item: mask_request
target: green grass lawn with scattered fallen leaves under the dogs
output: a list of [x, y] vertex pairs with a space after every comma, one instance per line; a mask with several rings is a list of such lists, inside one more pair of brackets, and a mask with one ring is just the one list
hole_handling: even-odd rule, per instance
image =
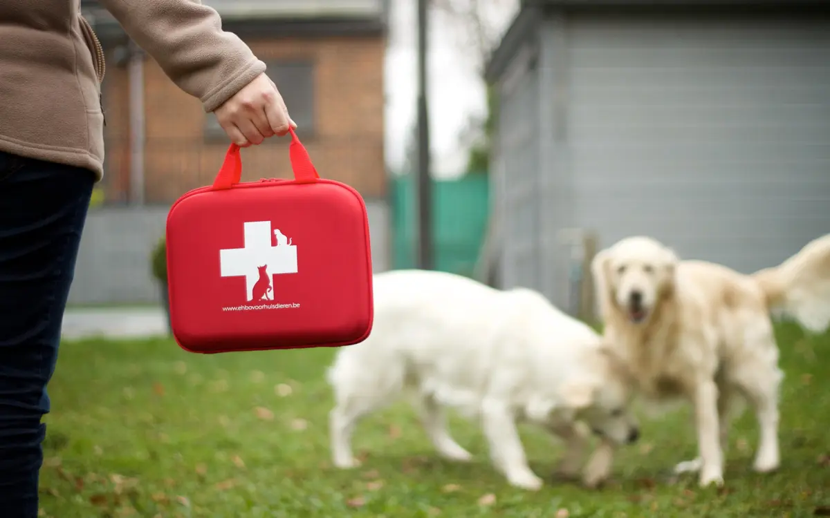
[[[198, 356], [163, 340], [66, 343], [50, 385], [41, 516], [830, 516], [830, 336], [780, 327], [779, 345], [779, 472], [752, 472], [746, 412], [724, 489], [673, 479], [669, 468], [696, 452], [684, 408], [644, 423], [606, 487], [551, 481], [531, 493], [494, 471], [479, 428], [464, 420], [453, 418], [452, 431], [475, 462], [440, 460], [404, 403], [359, 426], [362, 467], [334, 470], [324, 380], [334, 351]], [[547, 476], [559, 444], [522, 433]]]

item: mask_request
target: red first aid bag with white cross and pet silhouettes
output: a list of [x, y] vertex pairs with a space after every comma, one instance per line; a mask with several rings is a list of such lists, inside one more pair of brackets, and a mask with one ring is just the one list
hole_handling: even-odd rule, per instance
[[242, 182], [232, 144], [212, 186], [167, 217], [170, 323], [186, 351], [346, 346], [372, 329], [363, 198], [320, 178], [295, 133], [294, 179]]

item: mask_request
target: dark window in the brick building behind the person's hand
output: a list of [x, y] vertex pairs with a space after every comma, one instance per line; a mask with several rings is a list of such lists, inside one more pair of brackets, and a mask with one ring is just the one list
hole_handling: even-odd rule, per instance
[[[266, 73], [276, 83], [282, 99], [286, 101], [291, 119], [297, 123], [300, 137], [313, 136], [315, 133], [315, 66], [306, 60], [264, 60], [268, 69]], [[219, 125], [216, 115], [207, 114], [205, 119], [205, 138], [222, 139], [225, 131]]]

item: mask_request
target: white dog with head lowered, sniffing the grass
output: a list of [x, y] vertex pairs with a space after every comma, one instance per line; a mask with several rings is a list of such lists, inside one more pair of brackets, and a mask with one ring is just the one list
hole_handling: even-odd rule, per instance
[[424, 270], [374, 277], [374, 327], [344, 347], [329, 370], [334, 465], [354, 467], [351, 436], [360, 418], [402, 392], [414, 396], [438, 453], [471, 454], [453, 440], [442, 416], [452, 407], [481, 419], [491, 458], [510, 484], [539, 489], [516, 421], [541, 424], [564, 438], [560, 470], [579, 473], [590, 433], [602, 438], [584, 468], [594, 486], [608, 476], [613, 446], [639, 434], [627, 412], [630, 381], [591, 328], [564, 315], [539, 293], [499, 291], [469, 278]]

